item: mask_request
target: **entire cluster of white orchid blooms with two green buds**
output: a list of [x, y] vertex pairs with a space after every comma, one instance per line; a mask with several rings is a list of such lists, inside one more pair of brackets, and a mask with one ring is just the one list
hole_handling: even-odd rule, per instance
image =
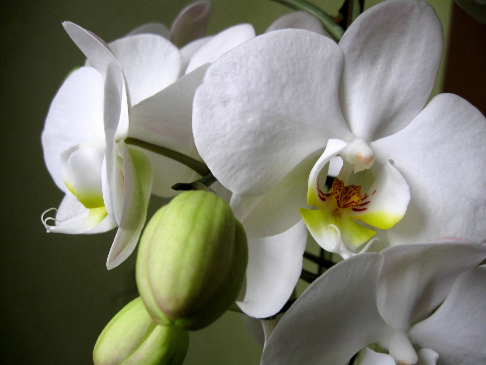
[[[385, 0], [344, 31], [278, 2], [299, 11], [258, 36], [204, 36], [206, 0], [111, 43], [63, 23], [87, 60], [46, 119], [65, 197], [42, 221], [117, 229], [108, 269], [141, 241], [140, 298], [95, 364], [181, 364], [187, 331], [226, 310], [247, 316], [262, 364], [486, 363], [486, 119], [457, 95], [429, 100], [433, 8]], [[180, 190], [140, 238], [150, 195]], [[312, 283], [295, 298], [299, 278]]]

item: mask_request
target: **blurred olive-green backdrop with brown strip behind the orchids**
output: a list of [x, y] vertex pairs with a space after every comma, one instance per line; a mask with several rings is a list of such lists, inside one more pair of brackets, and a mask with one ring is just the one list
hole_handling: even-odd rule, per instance
[[[343, 0], [315, 0], [337, 15]], [[368, 0], [365, 8], [379, 1]], [[146, 22], [170, 27], [187, 0], [0, 0], [0, 362], [92, 363], [106, 323], [137, 297], [135, 253], [105, 267], [114, 231], [93, 236], [48, 234], [41, 213], [63, 194], [45, 165], [41, 132], [50, 102], [84, 55], [61, 26], [73, 21], [109, 42]], [[212, 0], [208, 34], [250, 22], [262, 33], [290, 12], [268, 0]], [[430, 0], [445, 34], [433, 93], [455, 92], [486, 113], [486, 29], [450, 0]], [[164, 204], [152, 197], [149, 214]], [[302, 286], [302, 284], [301, 284]], [[227, 313], [191, 333], [185, 364], [257, 365], [260, 346]]]

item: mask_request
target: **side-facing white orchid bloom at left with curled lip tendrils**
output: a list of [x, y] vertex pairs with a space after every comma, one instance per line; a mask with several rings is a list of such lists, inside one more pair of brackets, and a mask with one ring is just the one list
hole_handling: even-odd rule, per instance
[[193, 175], [169, 158], [129, 148], [124, 140], [142, 139], [199, 159], [191, 130], [194, 91], [208, 62], [255, 32], [240, 24], [179, 50], [143, 28], [107, 45], [73, 23], [63, 25], [87, 62], [66, 79], [46, 119], [46, 165], [66, 196], [56, 218], [43, 214], [43, 223], [49, 232], [69, 234], [118, 227], [107, 259], [111, 269], [134, 250], [150, 194], [173, 196], [170, 187]]

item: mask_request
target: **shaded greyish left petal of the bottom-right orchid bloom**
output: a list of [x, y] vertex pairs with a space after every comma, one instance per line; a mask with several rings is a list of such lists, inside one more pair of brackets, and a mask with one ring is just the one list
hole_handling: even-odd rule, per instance
[[389, 333], [376, 307], [382, 256], [363, 253], [315, 280], [290, 307], [263, 350], [262, 364], [346, 362]]

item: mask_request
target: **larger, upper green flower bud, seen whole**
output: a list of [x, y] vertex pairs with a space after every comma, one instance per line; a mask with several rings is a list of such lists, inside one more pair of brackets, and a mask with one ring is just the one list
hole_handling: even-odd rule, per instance
[[137, 286], [157, 323], [197, 330], [234, 303], [247, 263], [247, 237], [228, 203], [207, 191], [188, 191], [145, 228]]

